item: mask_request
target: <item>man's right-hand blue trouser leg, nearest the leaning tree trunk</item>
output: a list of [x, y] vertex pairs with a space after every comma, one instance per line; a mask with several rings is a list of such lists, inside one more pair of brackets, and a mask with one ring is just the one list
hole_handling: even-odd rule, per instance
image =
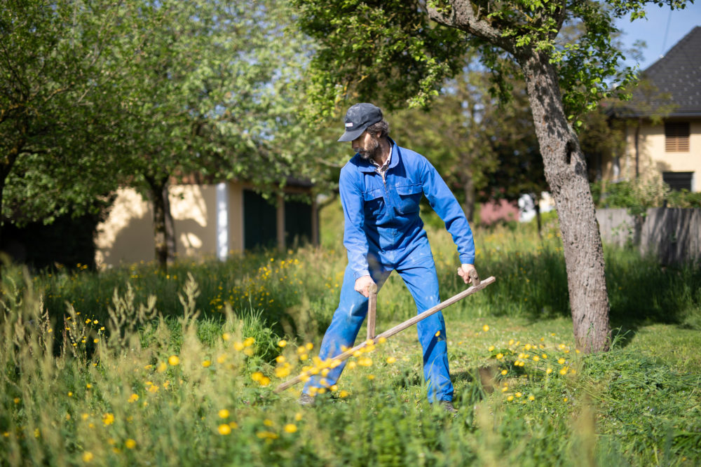
[[[440, 303], [438, 277], [428, 242], [417, 248], [397, 267], [416, 302], [416, 312], [422, 313]], [[418, 340], [423, 349], [423, 376], [428, 384], [428, 400], [453, 400], [453, 384], [448, 368], [448, 351], [443, 314], [437, 312], [416, 324]]]

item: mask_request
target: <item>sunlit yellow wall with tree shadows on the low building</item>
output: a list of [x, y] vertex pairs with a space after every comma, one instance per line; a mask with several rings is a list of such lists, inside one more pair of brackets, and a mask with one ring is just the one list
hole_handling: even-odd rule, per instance
[[[229, 252], [243, 250], [243, 188], [228, 184]], [[177, 256], [214, 257], [217, 253], [217, 186], [179, 185], [170, 188]], [[106, 221], [97, 226], [98, 267], [150, 261], [155, 257], [153, 211], [132, 188], [117, 191]]]

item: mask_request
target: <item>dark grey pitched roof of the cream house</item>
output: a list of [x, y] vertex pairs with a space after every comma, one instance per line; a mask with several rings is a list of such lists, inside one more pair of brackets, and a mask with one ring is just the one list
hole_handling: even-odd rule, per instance
[[701, 117], [701, 27], [691, 29], [645, 69], [641, 78], [651, 83], [653, 90], [643, 85], [636, 88], [625, 109], [616, 112], [619, 116], [646, 116], [651, 109], [674, 104], [667, 117]]

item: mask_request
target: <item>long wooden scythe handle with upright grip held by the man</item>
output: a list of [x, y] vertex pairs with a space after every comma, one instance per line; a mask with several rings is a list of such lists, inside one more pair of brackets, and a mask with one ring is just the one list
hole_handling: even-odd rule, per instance
[[[348, 359], [349, 357], [353, 356], [356, 351], [362, 349], [363, 347], [366, 347], [367, 345], [372, 342], [372, 345], [376, 344], [379, 342], [381, 339], [387, 339], [388, 337], [391, 337], [397, 333], [400, 333], [402, 330], [409, 328], [409, 326], [414, 326], [414, 324], [418, 323], [418, 321], [421, 321], [422, 319], [428, 318], [428, 316], [431, 316], [432, 314], [435, 314], [437, 312], [440, 312], [440, 310], [449, 307], [450, 305], [453, 305], [455, 302], [458, 302], [462, 300], [463, 298], [467, 297], [468, 295], [472, 295], [475, 292], [481, 291], [483, 288], [486, 286], [489, 286], [489, 284], [492, 284], [496, 279], [494, 276], [488, 277], [484, 279], [484, 281], [478, 282], [476, 286], [471, 286], [470, 288], [466, 288], [464, 291], [461, 293], [458, 293], [457, 295], [453, 295], [451, 298], [448, 300], [445, 300], [444, 302], [440, 302], [438, 305], [436, 305], [433, 308], [427, 309], [425, 312], [417, 314], [411, 319], [407, 319], [407, 321], [404, 321], [402, 323], [397, 324], [397, 326], [390, 328], [386, 330], [384, 333], [381, 333], [380, 335], [374, 335], [375, 334], [375, 308], [376, 308], [376, 303], [377, 303], [377, 286], [375, 284], [372, 284], [370, 287], [370, 296], [368, 300], [368, 305], [367, 305], [367, 340], [362, 342], [361, 344], [356, 345], [353, 347], [353, 349], [348, 349], [344, 351], [342, 354], [339, 354], [337, 356], [334, 356], [331, 358], [331, 361], [344, 361]], [[304, 381], [308, 377], [311, 377], [312, 373], [311, 371], [305, 371], [302, 372], [300, 375], [297, 375], [296, 377], [287, 380], [286, 382], [280, 384], [277, 388], [275, 388], [275, 392], [279, 393], [282, 391], [285, 391], [285, 389], [289, 388], [290, 386], [294, 386], [294, 384], [297, 384], [301, 381]]]

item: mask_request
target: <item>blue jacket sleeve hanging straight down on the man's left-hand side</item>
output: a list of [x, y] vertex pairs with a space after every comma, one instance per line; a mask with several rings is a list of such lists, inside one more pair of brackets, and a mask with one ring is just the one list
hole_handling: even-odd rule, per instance
[[353, 270], [355, 279], [369, 276], [367, 265], [368, 243], [365, 235], [365, 211], [363, 210], [362, 191], [353, 179], [348, 167], [341, 170], [339, 180], [341, 206], [343, 207], [343, 246], [348, 251], [348, 266]]

